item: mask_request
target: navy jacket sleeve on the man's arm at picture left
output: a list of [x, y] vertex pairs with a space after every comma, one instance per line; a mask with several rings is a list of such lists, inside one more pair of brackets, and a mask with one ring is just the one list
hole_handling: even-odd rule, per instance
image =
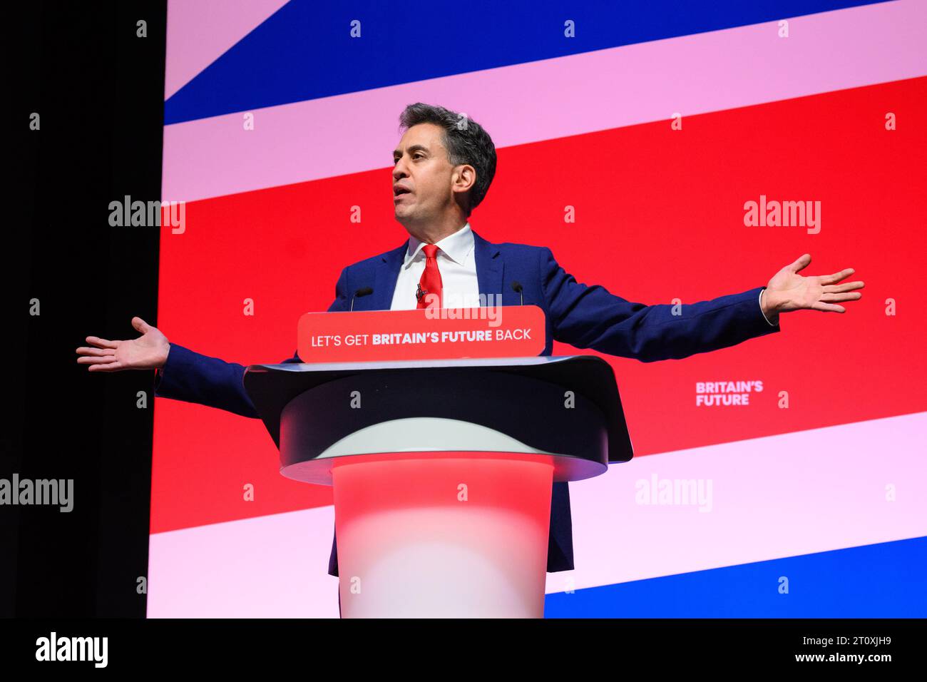
[[[347, 310], [348, 268], [341, 271], [335, 286], [335, 301], [328, 312]], [[298, 351], [282, 365], [301, 363]], [[258, 412], [245, 391], [245, 366], [225, 362], [171, 343], [164, 367], [155, 370], [155, 395], [186, 403], [197, 403], [258, 418]]]

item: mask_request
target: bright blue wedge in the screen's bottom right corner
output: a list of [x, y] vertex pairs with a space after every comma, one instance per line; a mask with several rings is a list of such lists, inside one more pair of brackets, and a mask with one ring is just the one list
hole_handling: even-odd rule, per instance
[[544, 604], [545, 618], [924, 618], [927, 537], [550, 594]]

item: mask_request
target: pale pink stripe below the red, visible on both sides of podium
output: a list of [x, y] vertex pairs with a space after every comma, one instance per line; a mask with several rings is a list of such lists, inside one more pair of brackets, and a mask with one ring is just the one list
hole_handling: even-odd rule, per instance
[[[927, 412], [632, 459], [570, 485], [577, 569], [547, 592], [927, 535]], [[710, 479], [711, 511], [635, 482]], [[894, 484], [897, 501], [885, 499]], [[333, 508], [153, 534], [149, 617], [335, 617]]]

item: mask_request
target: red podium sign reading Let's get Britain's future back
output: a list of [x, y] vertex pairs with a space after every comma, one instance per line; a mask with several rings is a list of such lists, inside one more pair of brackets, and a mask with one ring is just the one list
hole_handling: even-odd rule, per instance
[[545, 343], [537, 305], [306, 313], [297, 335], [307, 363], [526, 357]]

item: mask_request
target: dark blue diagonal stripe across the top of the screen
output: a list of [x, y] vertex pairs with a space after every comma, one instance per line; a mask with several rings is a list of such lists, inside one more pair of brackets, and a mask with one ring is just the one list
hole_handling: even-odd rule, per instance
[[[168, 99], [164, 122], [883, 1], [471, 0], [413, 6], [383, 0], [291, 0]], [[361, 21], [360, 38], [349, 35], [354, 19]], [[564, 35], [566, 19], [575, 22], [575, 38]]]

